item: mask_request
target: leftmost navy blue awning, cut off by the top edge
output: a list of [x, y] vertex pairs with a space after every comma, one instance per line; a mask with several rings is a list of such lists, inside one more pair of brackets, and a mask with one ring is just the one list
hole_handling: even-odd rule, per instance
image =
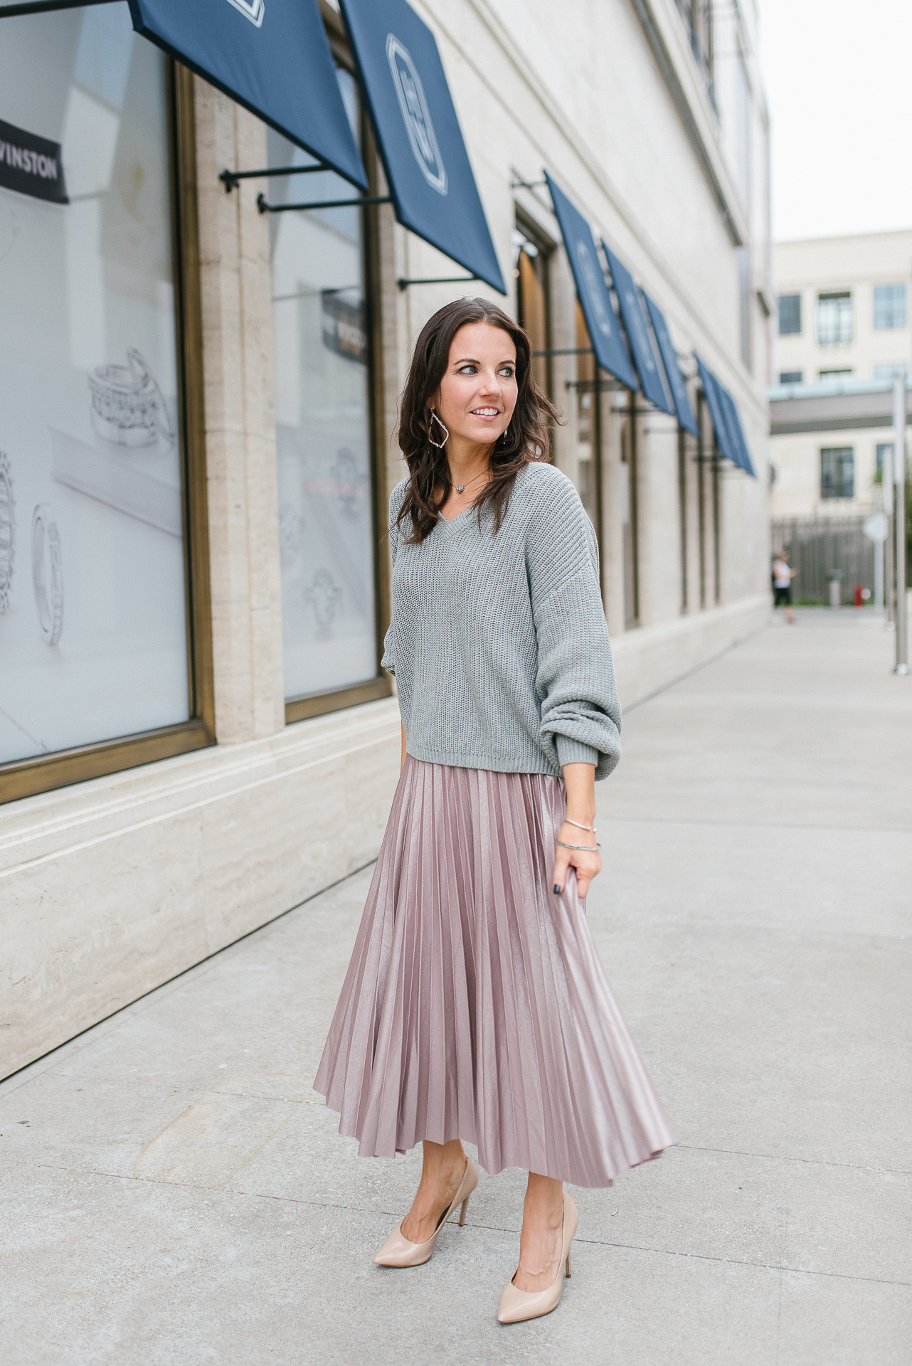
[[317, 0], [130, 0], [137, 33], [367, 189]]

